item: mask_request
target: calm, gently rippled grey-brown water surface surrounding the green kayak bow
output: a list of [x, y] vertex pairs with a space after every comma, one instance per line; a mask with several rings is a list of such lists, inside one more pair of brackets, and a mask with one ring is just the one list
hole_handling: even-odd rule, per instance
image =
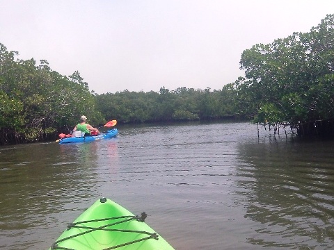
[[333, 249], [334, 142], [247, 123], [0, 147], [0, 249], [48, 249], [100, 197], [175, 249]]

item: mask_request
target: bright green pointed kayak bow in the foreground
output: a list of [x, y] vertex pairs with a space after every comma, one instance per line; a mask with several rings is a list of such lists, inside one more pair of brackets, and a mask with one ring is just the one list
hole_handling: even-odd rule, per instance
[[171, 250], [173, 247], [127, 209], [102, 198], [67, 226], [51, 249], [74, 250]]

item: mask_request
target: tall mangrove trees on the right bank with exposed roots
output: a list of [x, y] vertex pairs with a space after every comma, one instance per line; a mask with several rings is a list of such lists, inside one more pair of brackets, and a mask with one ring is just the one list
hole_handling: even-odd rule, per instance
[[256, 44], [242, 53], [248, 81], [237, 92], [254, 122], [289, 124], [303, 134], [319, 133], [319, 121], [333, 122], [333, 40], [334, 15], [327, 15], [309, 33]]

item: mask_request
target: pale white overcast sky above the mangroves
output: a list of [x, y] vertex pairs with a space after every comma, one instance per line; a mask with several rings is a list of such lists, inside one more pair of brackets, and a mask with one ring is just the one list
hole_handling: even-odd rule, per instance
[[244, 76], [242, 51], [308, 32], [333, 0], [0, 0], [0, 43], [78, 70], [90, 90], [211, 88]]

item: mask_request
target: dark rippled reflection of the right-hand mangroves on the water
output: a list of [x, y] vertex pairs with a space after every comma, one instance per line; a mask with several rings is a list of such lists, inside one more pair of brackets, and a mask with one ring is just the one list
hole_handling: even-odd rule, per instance
[[[251, 244], [331, 248], [334, 240], [333, 142], [239, 145], [238, 193], [254, 222]], [[326, 158], [324, 158], [326, 157]]]

